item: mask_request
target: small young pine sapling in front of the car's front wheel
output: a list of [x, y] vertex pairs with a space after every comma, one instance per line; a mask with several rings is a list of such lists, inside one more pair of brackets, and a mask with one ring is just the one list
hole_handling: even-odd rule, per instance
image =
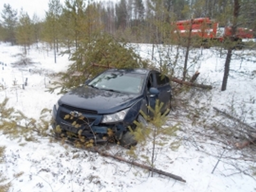
[[[134, 123], [137, 126], [136, 129], [134, 131], [130, 129], [138, 142], [137, 148], [140, 149], [131, 147], [130, 151], [128, 151], [128, 155], [133, 158], [145, 159], [151, 167], [154, 167], [154, 163], [157, 159], [157, 150], [159, 148], [167, 146], [170, 149], [175, 150], [180, 146], [180, 142], [176, 138], [179, 125], [166, 126], [169, 109], [167, 109], [166, 112], [161, 113], [162, 107], [163, 103], [156, 100], [154, 109], [148, 106], [152, 116], [145, 115], [142, 111], [140, 112], [142, 117], [147, 120], [148, 123], [145, 123], [145, 121], [135, 121]], [[147, 150], [145, 150], [146, 148]], [[145, 150], [146, 154], [141, 150]], [[140, 151], [140, 156], [137, 155], [137, 151]], [[151, 173], [151, 176], [153, 176], [153, 172]]]

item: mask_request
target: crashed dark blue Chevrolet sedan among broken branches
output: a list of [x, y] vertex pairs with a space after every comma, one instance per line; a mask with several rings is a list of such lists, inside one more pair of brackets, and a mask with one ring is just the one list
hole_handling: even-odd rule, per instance
[[123, 146], [136, 144], [128, 126], [140, 110], [150, 115], [156, 99], [163, 102], [162, 112], [170, 108], [169, 78], [150, 69], [109, 69], [73, 91], [63, 95], [53, 107], [53, 128], [105, 142], [111, 131]]

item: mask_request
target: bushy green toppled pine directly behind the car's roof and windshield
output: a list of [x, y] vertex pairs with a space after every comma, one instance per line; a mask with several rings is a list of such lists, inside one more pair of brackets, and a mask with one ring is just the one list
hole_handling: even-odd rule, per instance
[[[84, 43], [72, 54], [66, 73], [61, 73], [61, 82], [55, 83], [61, 93], [84, 83], [90, 77], [108, 68], [139, 68], [146, 66], [145, 61], [122, 40], [116, 40], [110, 34], [104, 33], [94, 38], [90, 43]], [[54, 88], [54, 89], [55, 89]], [[49, 91], [54, 91], [50, 89]]]

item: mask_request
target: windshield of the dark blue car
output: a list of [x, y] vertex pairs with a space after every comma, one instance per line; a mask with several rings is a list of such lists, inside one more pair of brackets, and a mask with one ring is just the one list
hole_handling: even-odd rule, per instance
[[114, 92], [135, 93], [141, 92], [144, 75], [126, 72], [105, 72], [94, 78], [88, 86]]

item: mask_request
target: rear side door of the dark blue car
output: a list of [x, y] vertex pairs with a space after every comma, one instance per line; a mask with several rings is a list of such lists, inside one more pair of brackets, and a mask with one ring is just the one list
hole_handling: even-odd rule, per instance
[[158, 99], [163, 102], [163, 107], [161, 112], [164, 113], [166, 109], [169, 108], [171, 99], [171, 86], [169, 83], [169, 78], [166, 75], [160, 74], [160, 72], [155, 72], [156, 87], [159, 90]]

